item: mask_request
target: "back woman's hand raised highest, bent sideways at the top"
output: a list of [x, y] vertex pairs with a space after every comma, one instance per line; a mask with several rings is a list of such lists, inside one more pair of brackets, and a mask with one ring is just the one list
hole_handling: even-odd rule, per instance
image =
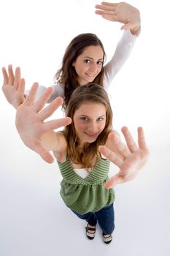
[[124, 25], [121, 29], [130, 29], [132, 34], [137, 34], [140, 28], [140, 12], [138, 9], [125, 2], [109, 3], [102, 1], [96, 4], [96, 14], [101, 15], [106, 20], [117, 21]]

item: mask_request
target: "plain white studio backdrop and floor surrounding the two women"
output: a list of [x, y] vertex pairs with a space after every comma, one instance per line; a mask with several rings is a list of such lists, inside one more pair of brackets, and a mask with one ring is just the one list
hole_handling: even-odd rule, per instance
[[[0, 91], [1, 256], [170, 254], [168, 2], [129, 1], [141, 11], [142, 32], [109, 89], [113, 125], [118, 131], [127, 125], [135, 138], [136, 127], [144, 127], [150, 160], [134, 181], [115, 188], [116, 227], [109, 246], [99, 228], [93, 241], [85, 238], [85, 222], [59, 195], [57, 163], [47, 165], [23, 145], [15, 110]], [[123, 31], [95, 15], [95, 4], [100, 2], [1, 1], [0, 66], [20, 66], [27, 89], [34, 81], [50, 86], [66, 46], [84, 32], [98, 35], [109, 60]]]

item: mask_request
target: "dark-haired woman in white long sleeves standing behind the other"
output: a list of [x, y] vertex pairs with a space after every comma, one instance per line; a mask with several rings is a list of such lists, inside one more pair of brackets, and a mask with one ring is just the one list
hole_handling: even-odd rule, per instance
[[[134, 46], [136, 36], [140, 31], [140, 12], [125, 2], [111, 4], [102, 2], [96, 5], [96, 14], [111, 21], [123, 23], [123, 37], [117, 45], [112, 59], [104, 66], [106, 55], [101, 40], [95, 34], [80, 34], [68, 45], [63, 56], [61, 69], [55, 74], [53, 94], [48, 103], [56, 97], [63, 97], [63, 107], [66, 107], [74, 89], [90, 82], [98, 83], [108, 89], [109, 84], [120, 68], [128, 59]], [[20, 67], [12, 70], [9, 65], [8, 72], [3, 67], [4, 84], [2, 90], [8, 102], [16, 109], [23, 103], [26, 93], [25, 80], [20, 79]], [[39, 86], [37, 97], [45, 91], [45, 86]]]

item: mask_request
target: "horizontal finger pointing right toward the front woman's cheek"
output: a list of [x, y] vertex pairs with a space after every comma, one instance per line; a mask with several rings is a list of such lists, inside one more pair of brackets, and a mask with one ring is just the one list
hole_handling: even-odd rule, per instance
[[47, 121], [44, 124], [44, 129], [45, 131], [49, 129], [58, 129], [60, 127], [66, 127], [66, 125], [69, 125], [71, 123], [72, 123], [72, 119], [69, 117], [65, 117], [58, 120]]

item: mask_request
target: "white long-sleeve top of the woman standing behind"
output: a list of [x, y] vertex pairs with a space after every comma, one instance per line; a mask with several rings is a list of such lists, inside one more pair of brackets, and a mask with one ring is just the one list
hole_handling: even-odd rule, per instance
[[[123, 36], [117, 44], [112, 59], [104, 67], [104, 89], [108, 90], [109, 84], [112, 82], [113, 78], [115, 78], [115, 75], [117, 75], [117, 72], [119, 72], [121, 67], [123, 67], [123, 64], [131, 54], [131, 50], [134, 47], [135, 41], [136, 36], [131, 34], [130, 30], [125, 30], [123, 32]], [[64, 98], [64, 85], [55, 84], [50, 87], [53, 87], [54, 91], [47, 103], [52, 102], [53, 99], [58, 96]], [[45, 89], [45, 86], [39, 86], [36, 99], [39, 99]]]

